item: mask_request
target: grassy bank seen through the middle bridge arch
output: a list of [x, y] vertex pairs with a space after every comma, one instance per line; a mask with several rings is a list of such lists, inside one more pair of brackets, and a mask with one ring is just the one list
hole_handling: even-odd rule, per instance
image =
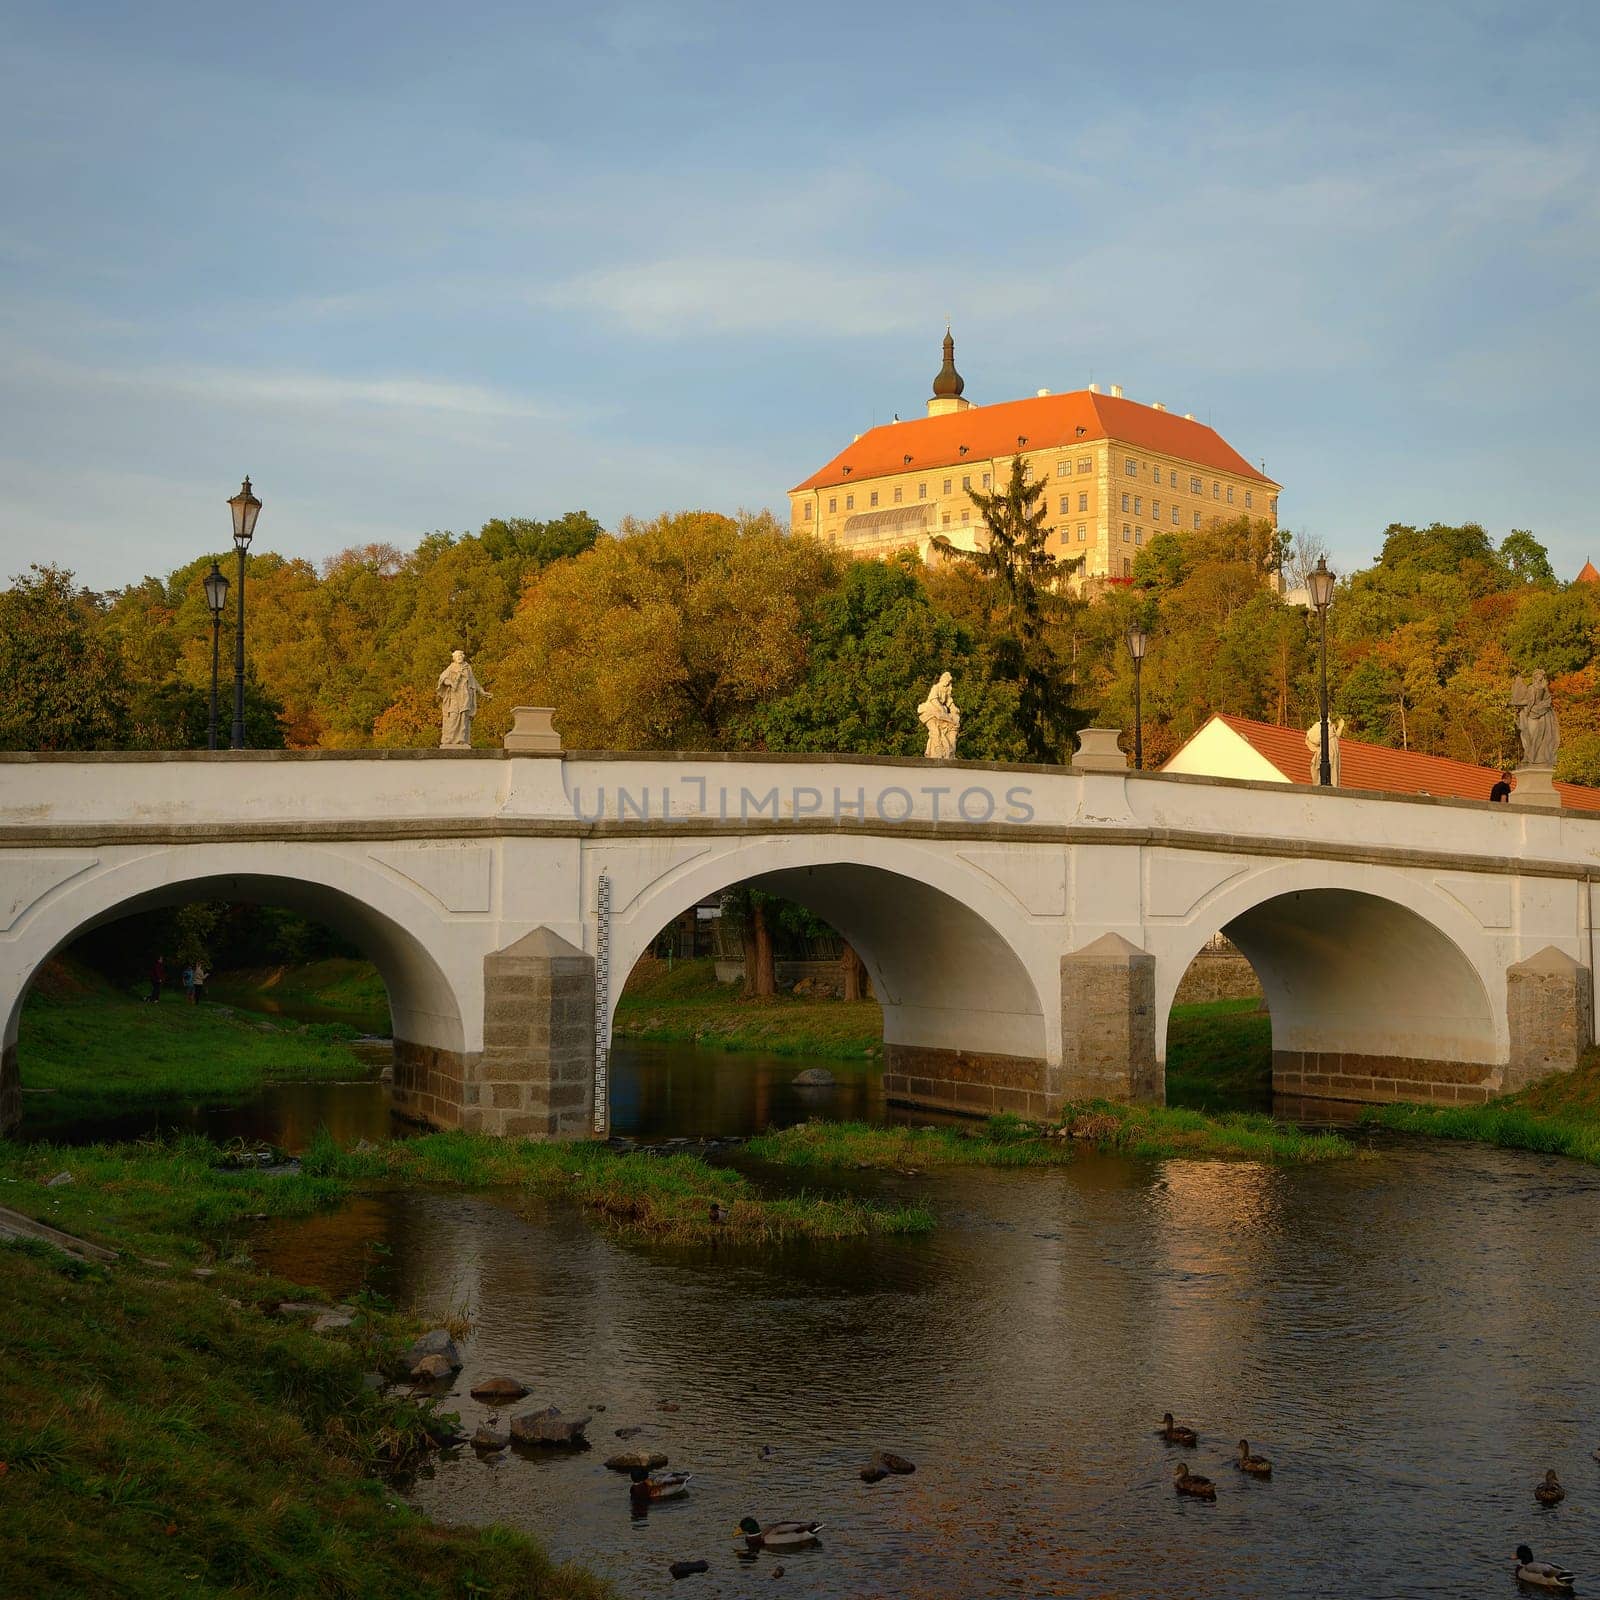
[[739, 984], [717, 982], [714, 962], [694, 960], [635, 973], [616, 1003], [613, 1034], [701, 1050], [866, 1061], [883, 1051], [883, 1013], [875, 1000], [747, 998]]

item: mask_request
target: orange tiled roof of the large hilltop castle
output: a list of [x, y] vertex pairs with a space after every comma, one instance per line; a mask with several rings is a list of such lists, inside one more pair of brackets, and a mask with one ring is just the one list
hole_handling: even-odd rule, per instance
[[[1027, 440], [1019, 446], [1018, 438]], [[1278, 488], [1258, 472], [1227, 440], [1203, 422], [1190, 422], [1173, 411], [1157, 411], [1118, 395], [1090, 394], [1078, 389], [1066, 395], [1034, 395], [1029, 400], [1003, 400], [998, 405], [974, 405], [944, 416], [920, 416], [907, 422], [885, 422], [846, 445], [821, 472], [811, 474], [789, 493], [859, 483], [891, 472], [918, 472], [930, 467], [954, 467], [960, 462], [1014, 456], [1022, 450], [1053, 450], [1061, 445], [1083, 445], [1096, 438], [1115, 438], [1138, 450], [1174, 456], [1216, 472], [1254, 478]], [[966, 446], [965, 453], [962, 446]], [[906, 458], [910, 456], [910, 461]], [[850, 467], [850, 472], [845, 472]]]

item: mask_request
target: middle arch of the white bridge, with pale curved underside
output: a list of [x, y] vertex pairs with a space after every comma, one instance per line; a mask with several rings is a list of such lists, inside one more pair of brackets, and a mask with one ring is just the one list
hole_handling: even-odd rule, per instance
[[891, 1099], [963, 1112], [1046, 1110], [1061, 1019], [1042, 995], [1056, 981], [1059, 933], [1042, 939], [989, 874], [912, 840], [741, 840], [664, 874], [613, 907], [613, 1010], [667, 922], [741, 883], [805, 906], [861, 957], [883, 1008]]

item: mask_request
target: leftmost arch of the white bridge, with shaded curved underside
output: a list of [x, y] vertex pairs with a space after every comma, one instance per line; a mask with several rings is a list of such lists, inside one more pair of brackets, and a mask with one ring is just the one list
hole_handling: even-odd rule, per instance
[[[336, 850], [306, 845], [286, 864], [282, 845], [197, 843], [99, 862], [40, 896], [0, 938], [0, 1125], [16, 1120], [16, 1045], [22, 998], [40, 966], [74, 939], [141, 910], [189, 901], [285, 906], [344, 934], [373, 962], [389, 992], [395, 1035], [395, 1099], [421, 1074], [459, 1074], [467, 1040], [482, 1032], [482, 947], [448, 930], [418, 890]], [[426, 1112], [427, 1107], [416, 1107]]]

